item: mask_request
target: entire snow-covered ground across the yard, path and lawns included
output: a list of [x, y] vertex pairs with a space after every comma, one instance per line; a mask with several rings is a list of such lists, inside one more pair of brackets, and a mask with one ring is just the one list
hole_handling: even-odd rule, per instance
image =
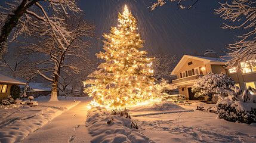
[[217, 119], [217, 114], [195, 110], [197, 105], [215, 104], [167, 102], [130, 107], [137, 130], [131, 128], [130, 119], [118, 115], [108, 125], [110, 110], [90, 108], [88, 97], [35, 100], [38, 107], [0, 108], [0, 142], [256, 142], [255, 123], [227, 122]]

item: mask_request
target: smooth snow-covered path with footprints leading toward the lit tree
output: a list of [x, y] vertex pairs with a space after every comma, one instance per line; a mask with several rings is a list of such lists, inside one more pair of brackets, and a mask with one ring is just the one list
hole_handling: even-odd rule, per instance
[[85, 127], [89, 103], [90, 101], [82, 101], [27, 136], [22, 142], [90, 142], [92, 137]]

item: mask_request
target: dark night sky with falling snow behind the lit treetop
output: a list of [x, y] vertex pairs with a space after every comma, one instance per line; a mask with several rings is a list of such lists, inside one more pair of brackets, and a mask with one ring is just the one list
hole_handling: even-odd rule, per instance
[[[4, 5], [4, 1], [0, 4]], [[147, 8], [150, 0], [81, 0], [79, 8], [85, 18], [97, 25], [99, 39], [93, 41], [91, 55], [102, 50], [102, 35], [109, 33], [110, 26], [117, 26], [118, 12], [122, 13], [125, 4], [137, 18], [138, 32], [150, 54], [161, 49], [177, 55], [179, 60], [183, 54], [203, 54], [206, 49], [214, 49], [223, 55], [227, 51], [225, 45], [234, 42], [235, 32], [221, 29], [223, 20], [213, 14], [214, 8], [219, 7], [215, 0], [199, 1], [190, 10], [177, 10], [177, 2], [168, 2], [152, 12]]]

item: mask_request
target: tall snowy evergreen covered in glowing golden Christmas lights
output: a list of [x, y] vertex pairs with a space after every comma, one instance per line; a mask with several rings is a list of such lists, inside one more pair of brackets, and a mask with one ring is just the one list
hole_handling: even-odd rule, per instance
[[112, 27], [109, 35], [104, 34], [104, 52], [97, 55], [106, 60], [92, 72], [87, 80], [91, 84], [92, 105], [105, 107], [126, 107], [156, 98], [153, 88], [155, 79], [152, 66], [153, 58], [147, 58], [143, 48], [144, 41], [137, 33], [137, 20], [125, 5], [124, 13], [118, 15], [118, 27]]

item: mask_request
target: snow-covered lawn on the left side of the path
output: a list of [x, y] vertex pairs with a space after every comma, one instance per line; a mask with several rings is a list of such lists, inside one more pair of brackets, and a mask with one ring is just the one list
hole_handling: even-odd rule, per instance
[[[45, 98], [49, 100], [49, 98]], [[42, 99], [41, 99], [42, 100]], [[55, 117], [69, 110], [80, 101], [39, 101], [36, 107], [7, 105], [0, 107], [0, 142], [22, 141]]]

